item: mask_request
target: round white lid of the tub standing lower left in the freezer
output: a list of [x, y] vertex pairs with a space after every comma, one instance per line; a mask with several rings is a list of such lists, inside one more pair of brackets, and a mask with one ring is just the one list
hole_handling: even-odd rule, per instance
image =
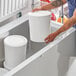
[[12, 47], [20, 47], [27, 44], [27, 39], [21, 35], [11, 35], [5, 38], [4, 44]]

